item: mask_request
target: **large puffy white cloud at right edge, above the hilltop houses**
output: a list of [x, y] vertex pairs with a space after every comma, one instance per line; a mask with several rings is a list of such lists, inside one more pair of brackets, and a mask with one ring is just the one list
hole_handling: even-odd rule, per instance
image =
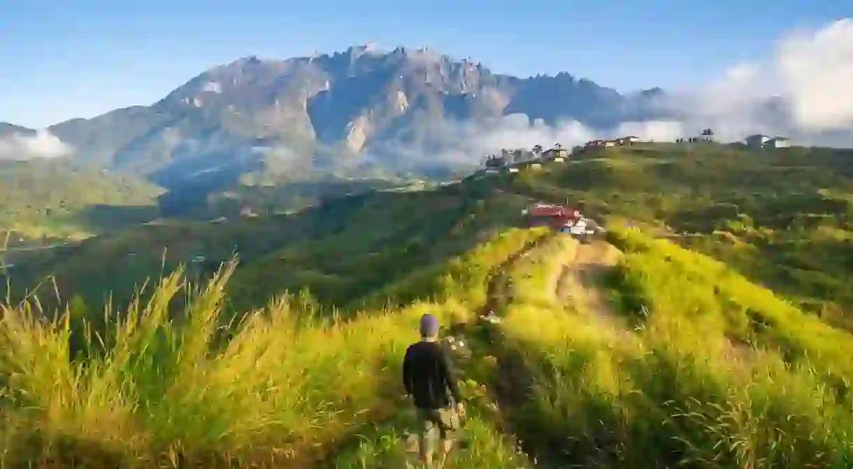
[[853, 146], [853, 20], [793, 32], [767, 61], [736, 64], [663, 106], [685, 130], [711, 127], [722, 140], [765, 133]]

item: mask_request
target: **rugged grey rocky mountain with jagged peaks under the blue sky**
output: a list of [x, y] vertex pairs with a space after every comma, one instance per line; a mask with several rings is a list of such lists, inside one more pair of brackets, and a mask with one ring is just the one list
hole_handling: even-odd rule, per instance
[[[593, 129], [658, 119], [664, 91], [623, 95], [567, 72], [518, 78], [430, 49], [369, 45], [213, 67], [150, 106], [49, 126], [73, 158], [170, 191], [445, 167], [462, 125], [509, 114]], [[0, 137], [35, 130], [0, 123]], [[549, 145], [554, 142], [541, 142]], [[495, 148], [496, 150], [496, 148]], [[471, 155], [476, 162], [480, 155]], [[251, 183], [251, 182], [249, 182]]]

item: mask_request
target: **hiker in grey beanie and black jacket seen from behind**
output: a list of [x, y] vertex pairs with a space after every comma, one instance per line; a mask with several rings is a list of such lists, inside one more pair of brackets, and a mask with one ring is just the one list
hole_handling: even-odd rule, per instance
[[[459, 396], [456, 376], [450, 357], [438, 343], [438, 319], [431, 314], [421, 316], [421, 341], [409, 345], [403, 359], [403, 385], [406, 394], [414, 397], [418, 410], [418, 443], [421, 462], [432, 467], [433, 442], [438, 431], [442, 443], [441, 466], [447, 459], [459, 429], [459, 418], [465, 416], [465, 406]], [[450, 397], [456, 402], [451, 406]]]

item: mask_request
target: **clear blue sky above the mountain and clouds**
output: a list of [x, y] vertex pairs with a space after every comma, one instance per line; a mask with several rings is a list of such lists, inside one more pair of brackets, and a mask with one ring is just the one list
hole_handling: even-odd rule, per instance
[[[244, 55], [373, 41], [561, 70], [620, 91], [686, 88], [769, 55], [781, 35], [853, 15], [815, 0], [0, 0], [0, 121], [31, 127], [150, 104]], [[177, 6], [176, 6], [177, 5]]]

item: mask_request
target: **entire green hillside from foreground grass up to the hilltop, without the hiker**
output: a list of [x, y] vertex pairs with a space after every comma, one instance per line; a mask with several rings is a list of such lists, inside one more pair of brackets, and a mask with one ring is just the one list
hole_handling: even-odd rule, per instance
[[[465, 343], [445, 467], [849, 467], [849, 156], [601, 149], [34, 253], [13, 283], [80, 296], [53, 323], [3, 311], [0, 463], [403, 467], [399, 364], [430, 311]], [[524, 228], [531, 200], [582, 204], [606, 239]], [[209, 283], [178, 269], [96, 319], [99, 292], [200, 255]]]

